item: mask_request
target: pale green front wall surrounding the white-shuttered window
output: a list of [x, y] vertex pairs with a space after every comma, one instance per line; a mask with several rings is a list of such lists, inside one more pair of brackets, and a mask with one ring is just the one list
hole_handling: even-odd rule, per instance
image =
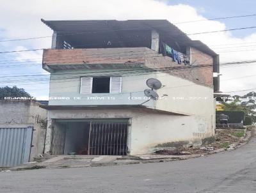
[[[127, 71], [127, 69], [124, 70]], [[132, 68], [129, 70], [132, 70]], [[147, 100], [147, 97], [144, 95], [144, 89], [147, 88], [145, 82], [148, 77], [154, 77], [154, 75], [134, 76], [134, 73], [132, 73], [130, 76], [127, 76], [125, 71], [116, 69], [109, 70], [106, 73], [106, 69], [103, 69], [97, 70], [97, 72], [95, 70], [66, 70], [51, 73], [49, 105], [138, 105], [145, 102]], [[143, 71], [140, 70], [140, 72]], [[122, 93], [80, 93], [80, 77], [86, 75], [99, 76], [102, 73], [106, 76], [120, 74], [122, 76]], [[54, 99], [54, 97], [59, 98]], [[154, 102], [147, 102], [146, 105], [153, 107]]]

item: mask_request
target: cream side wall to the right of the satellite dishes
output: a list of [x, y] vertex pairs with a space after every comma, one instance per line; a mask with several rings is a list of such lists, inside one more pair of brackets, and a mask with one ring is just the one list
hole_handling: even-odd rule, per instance
[[205, 123], [200, 127], [203, 127], [208, 133], [214, 134], [215, 102], [213, 88], [172, 75], [160, 74], [157, 75], [157, 79], [165, 85], [157, 90], [158, 95], [168, 96], [156, 101], [156, 109], [204, 118]]

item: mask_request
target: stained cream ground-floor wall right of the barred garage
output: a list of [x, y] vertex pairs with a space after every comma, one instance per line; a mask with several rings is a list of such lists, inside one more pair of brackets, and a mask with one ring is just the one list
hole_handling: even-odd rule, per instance
[[207, 128], [207, 119], [200, 116], [147, 113], [132, 118], [131, 153], [152, 153], [156, 146], [172, 142], [198, 145], [213, 134]]

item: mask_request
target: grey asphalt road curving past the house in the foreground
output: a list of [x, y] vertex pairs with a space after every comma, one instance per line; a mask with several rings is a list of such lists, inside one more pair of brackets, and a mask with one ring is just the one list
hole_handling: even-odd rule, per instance
[[0, 172], [0, 192], [256, 192], [256, 139], [177, 162]]

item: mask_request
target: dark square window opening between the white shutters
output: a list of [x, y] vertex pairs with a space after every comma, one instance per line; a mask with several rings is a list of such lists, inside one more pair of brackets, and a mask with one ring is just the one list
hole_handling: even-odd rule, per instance
[[92, 93], [109, 93], [110, 77], [93, 77]]

